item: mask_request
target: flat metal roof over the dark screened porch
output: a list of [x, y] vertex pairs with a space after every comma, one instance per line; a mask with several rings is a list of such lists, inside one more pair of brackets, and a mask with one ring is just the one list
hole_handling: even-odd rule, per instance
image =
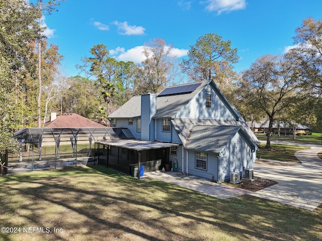
[[133, 139], [106, 140], [106, 141], [98, 141], [97, 143], [103, 144], [106, 146], [131, 149], [135, 151], [177, 147], [180, 145], [175, 143], [165, 143], [165, 142], [157, 142], [157, 141], [148, 142], [148, 141], [133, 140]]

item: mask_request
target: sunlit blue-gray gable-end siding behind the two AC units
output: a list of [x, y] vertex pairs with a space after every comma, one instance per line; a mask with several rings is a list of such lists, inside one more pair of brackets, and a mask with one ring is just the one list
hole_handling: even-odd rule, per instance
[[220, 158], [220, 181], [230, 178], [230, 172], [243, 177], [245, 168], [253, 168], [256, 152], [252, 153], [244, 138], [237, 133], [224, 149]]

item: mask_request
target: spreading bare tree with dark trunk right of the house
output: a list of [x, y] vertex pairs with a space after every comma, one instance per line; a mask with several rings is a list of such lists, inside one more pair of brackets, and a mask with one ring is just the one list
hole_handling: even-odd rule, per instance
[[298, 75], [288, 56], [265, 55], [243, 72], [240, 86], [243, 101], [269, 118], [267, 149], [271, 148], [275, 116], [294, 103], [298, 87]]

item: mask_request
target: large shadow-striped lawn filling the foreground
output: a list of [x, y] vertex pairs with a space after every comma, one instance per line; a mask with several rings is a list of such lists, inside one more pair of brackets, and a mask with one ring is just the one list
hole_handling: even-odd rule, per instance
[[21, 229], [0, 239], [322, 240], [322, 206], [308, 211], [249, 195], [221, 200], [92, 167], [1, 177], [2, 226], [51, 233]]

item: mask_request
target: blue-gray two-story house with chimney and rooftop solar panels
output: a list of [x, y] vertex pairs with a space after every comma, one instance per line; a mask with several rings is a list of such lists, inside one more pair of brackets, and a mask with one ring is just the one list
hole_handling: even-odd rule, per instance
[[172, 163], [174, 170], [222, 182], [231, 172], [244, 176], [256, 160], [259, 141], [212, 80], [134, 96], [108, 118], [135, 137], [98, 142], [118, 164]]

